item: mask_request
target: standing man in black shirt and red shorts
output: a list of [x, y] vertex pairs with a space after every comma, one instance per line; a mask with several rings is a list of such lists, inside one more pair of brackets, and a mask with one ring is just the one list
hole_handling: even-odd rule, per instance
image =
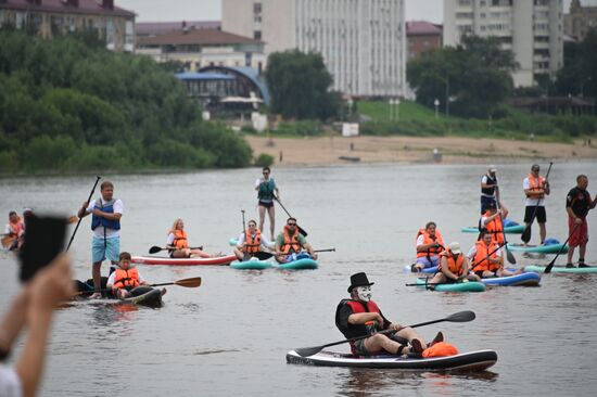
[[576, 187], [572, 188], [566, 196], [566, 210], [568, 212], [568, 230], [570, 239], [568, 241], [568, 262], [567, 268], [573, 268], [572, 256], [574, 251], [579, 248], [579, 267], [588, 268], [585, 264], [586, 244], [588, 243], [588, 225], [586, 216], [588, 210], [595, 208], [597, 204], [597, 195], [590, 201], [590, 193], [586, 190], [588, 187], [588, 178], [586, 175], [576, 177]]

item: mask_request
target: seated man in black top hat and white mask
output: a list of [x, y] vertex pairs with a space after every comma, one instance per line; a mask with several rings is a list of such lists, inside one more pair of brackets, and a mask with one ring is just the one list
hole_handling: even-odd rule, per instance
[[[391, 355], [420, 355], [427, 348], [424, 340], [411, 328], [383, 317], [378, 305], [371, 300], [371, 285], [373, 283], [369, 282], [364, 272], [351, 276], [351, 298], [342, 299], [335, 310], [335, 325], [347, 340], [371, 334], [364, 340], [351, 341], [353, 355], [370, 356], [382, 351]], [[443, 340], [440, 332], [433, 343]]]

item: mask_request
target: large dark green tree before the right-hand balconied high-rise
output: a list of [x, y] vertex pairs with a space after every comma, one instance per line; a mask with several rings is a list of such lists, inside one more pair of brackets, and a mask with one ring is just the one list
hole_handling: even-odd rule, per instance
[[456, 48], [411, 61], [407, 78], [419, 103], [433, 107], [435, 99], [444, 106], [449, 101], [450, 113], [486, 117], [511, 93], [516, 66], [512, 52], [501, 50], [497, 38], [463, 36]]

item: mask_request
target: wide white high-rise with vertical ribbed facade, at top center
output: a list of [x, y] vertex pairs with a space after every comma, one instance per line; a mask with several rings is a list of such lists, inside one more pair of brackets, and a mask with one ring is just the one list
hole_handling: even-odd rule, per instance
[[406, 93], [404, 0], [223, 0], [221, 28], [265, 52], [318, 52], [333, 89], [358, 97]]

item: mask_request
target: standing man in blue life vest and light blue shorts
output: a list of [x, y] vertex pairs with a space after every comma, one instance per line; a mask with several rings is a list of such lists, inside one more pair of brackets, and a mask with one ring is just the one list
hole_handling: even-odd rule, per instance
[[123, 216], [124, 204], [120, 198], [114, 198], [114, 184], [111, 181], [103, 181], [100, 185], [100, 197], [93, 202], [82, 203], [78, 212], [78, 217], [82, 218], [92, 214], [91, 230], [93, 239], [91, 241], [91, 261], [93, 266], [93, 289], [96, 293], [91, 298], [101, 297], [101, 266], [105, 259], [112, 262], [110, 273], [118, 265], [118, 255], [120, 253], [120, 218]]

